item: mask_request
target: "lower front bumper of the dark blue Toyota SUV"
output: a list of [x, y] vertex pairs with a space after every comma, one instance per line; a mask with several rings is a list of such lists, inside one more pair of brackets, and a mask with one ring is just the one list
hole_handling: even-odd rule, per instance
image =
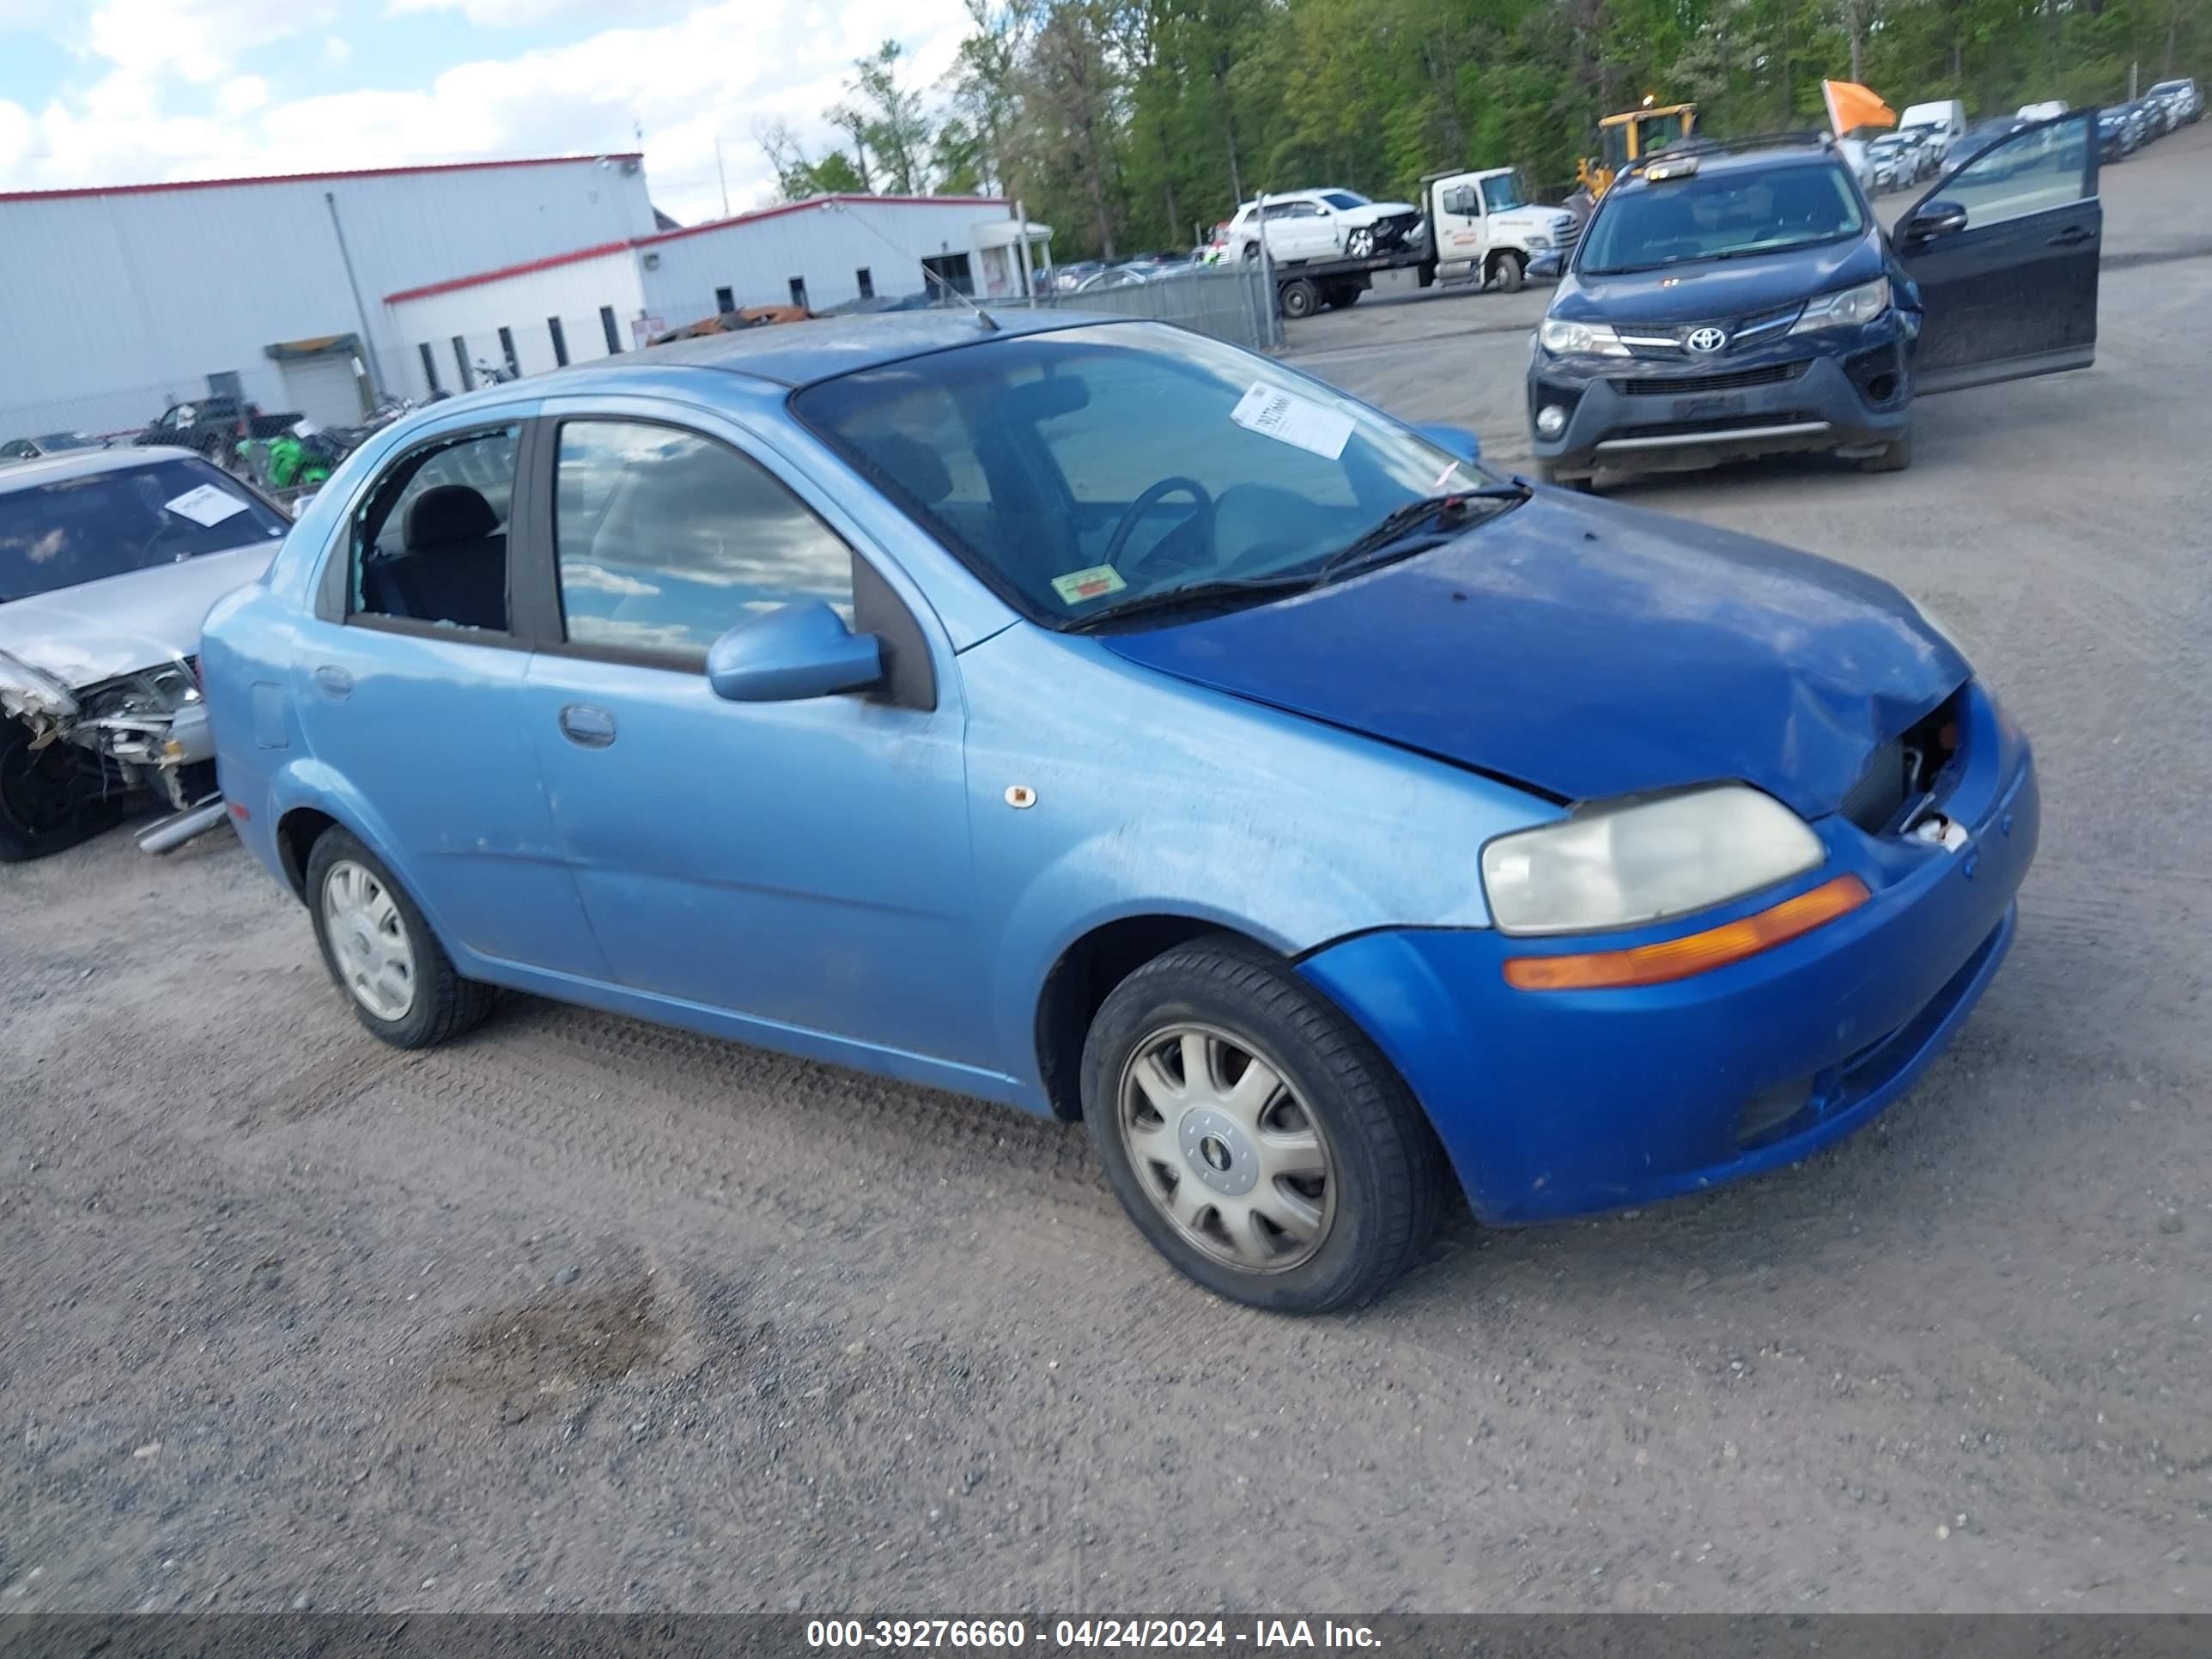
[[[1679, 471], [1754, 456], [1878, 447], [1911, 425], [1916, 321], [1785, 334], [1747, 352], [1528, 356], [1528, 442], [1559, 473]], [[1555, 436], [1537, 414], [1568, 411]]]

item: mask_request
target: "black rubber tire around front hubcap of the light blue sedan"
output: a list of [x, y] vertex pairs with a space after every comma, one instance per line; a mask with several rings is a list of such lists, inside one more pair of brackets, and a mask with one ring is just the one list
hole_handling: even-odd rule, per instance
[[[1121, 1075], [1177, 1022], [1265, 1055], [1329, 1155], [1318, 1245], [1283, 1270], [1234, 1267], [1164, 1214], [1121, 1137]], [[1217, 1296], [1274, 1314], [1327, 1314], [1378, 1296], [1420, 1254], [1444, 1199], [1444, 1155], [1411, 1091], [1327, 998], [1230, 936], [1152, 958], [1113, 989], [1084, 1042], [1084, 1117], [1115, 1197], [1155, 1250]]]

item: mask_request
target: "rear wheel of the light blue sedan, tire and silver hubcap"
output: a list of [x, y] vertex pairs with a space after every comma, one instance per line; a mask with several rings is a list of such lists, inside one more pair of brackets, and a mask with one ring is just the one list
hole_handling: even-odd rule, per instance
[[407, 889], [345, 830], [307, 854], [307, 909], [354, 1018], [394, 1048], [429, 1048], [491, 1013], [491, 987], [453, 971]]

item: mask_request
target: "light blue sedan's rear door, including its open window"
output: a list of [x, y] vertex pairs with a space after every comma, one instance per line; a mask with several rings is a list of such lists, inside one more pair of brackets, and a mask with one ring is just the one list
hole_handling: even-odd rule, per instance
[[518, 697], [509, 515], [526, 411], [462, 418], [394, 456], [299, 626], [307, 748], [449, 945], [602, 978]]

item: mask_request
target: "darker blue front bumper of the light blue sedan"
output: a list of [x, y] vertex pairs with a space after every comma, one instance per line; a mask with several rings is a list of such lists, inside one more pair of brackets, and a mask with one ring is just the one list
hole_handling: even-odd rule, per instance
[[1604, 938], [1385, 929], [1301, 971], [1398, 1066], [1482, 1221], [1577, 1217], [1794, 1164], [1913, 1084], [2013, 942], [2035, 858], [2035, 765], [1978, 688], [1966, 728], [1940, 810], [1969, 841], [1944, 849], [1823, 818], [1829, 858], [1796, 887], [1851, 872], [1871, 898], [1765, 953], [1621, 991], [1504, 980], [1513, 956], [1679, 938], [1783, 889]]

